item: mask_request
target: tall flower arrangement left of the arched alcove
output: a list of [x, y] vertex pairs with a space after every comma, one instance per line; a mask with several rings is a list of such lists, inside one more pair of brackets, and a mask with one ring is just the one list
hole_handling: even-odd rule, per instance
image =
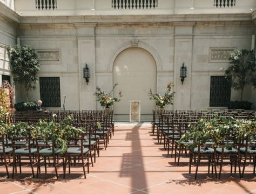
[[114, 103], [120, 101], [120, 99], [118, 99], [118, 97], [122, 98], [122, 96], [123, 96], [121, 91], [119, 91], [118, 96], [112, 97], [112, 93], [114, 91], [114, 88], [117, 85], [118, 85], [118, 83], [116, 83], [113, 86], [112, 90], [107, 94], [105, 94], [104, 91], [101, 91], [101, 89], [98, 86], [96, 87], [96, 92], [93, 95], [95, 95], [96, 101], [100, 103], [100, 106], [105, 107], [105, 108], [109, 108]]

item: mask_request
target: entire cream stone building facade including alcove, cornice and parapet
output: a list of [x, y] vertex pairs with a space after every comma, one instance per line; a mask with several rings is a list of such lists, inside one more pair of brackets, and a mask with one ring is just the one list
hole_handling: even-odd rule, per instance
[[[158, 0], [157, 8], [130, 10], [114, 9], [105, 0], [58, 1], [56, 10], [36, 10], [29, 0], [8, 2], [0, 1], [0, 73], [10, 75], [7, 45], [31, 45], [41, 63], [41, 84], [29, 99], [42, 98], [43, 82], [59, 83], [58, 106], [49, 108], [61, 109], [66, 96], [66, 109], [101, 109], [93, 96], [96, 86], [110, 91], [118, 82], [114, 93], [121, 90], [124, 96], [113, 107], [117, 119], [127, 120], [129, 100], [140, 100], [142, 119], [149, 120], [155, 107], [147, 92], [163, 93], [169, 81], [176, 95], [167, 109], [226, 108], [214, 102], [213, 93], [214, 88], [227, 90], [218, 83], [223, 82], [228, 54], [255, 48], [255, 1], [237, 0], [233, 8], [217, 9], [210, 0]], [[183, 63], [187, 77], [182, 83]], [[16, 102], [24, 101], [23, 91], [16, 86]], [[232, 90], [230, 99], [239, 98], [240, 91]], [[247, 87], [244, 100], [255, 109], [255, 89]]]

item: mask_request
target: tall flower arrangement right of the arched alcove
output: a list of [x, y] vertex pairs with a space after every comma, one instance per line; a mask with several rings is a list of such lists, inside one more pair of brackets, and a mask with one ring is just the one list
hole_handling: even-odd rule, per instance
[[158, 108], [163, 109], [165, 105], [173, 105], [173, 98], [175, 92], [172, 92], [174, 84], [172, 82], [169, 82], [167, 84], [167, 89], [163, 95], [160, 94], [153, 94], [152, 90], [149, 91], [149, 99], [156, 101], [156, 106]]

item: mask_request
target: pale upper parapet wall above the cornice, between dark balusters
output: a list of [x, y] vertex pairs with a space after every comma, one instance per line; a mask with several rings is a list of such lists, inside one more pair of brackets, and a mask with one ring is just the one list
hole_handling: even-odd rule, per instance
[[[213, 1], [161, 0], [155, 9], [114, 9], [111, 0], [61, 0], [54, 11], [36, 9], [34, 0], [15, 0], [15, 10], [22, 16], [75, 16], [75, 15], [168, 15], [198, 13], [251, 13], [254, 0], [237, 0], [235, 8], [219, 8]], [[192, 9], [194, 8], [194, 9]]]

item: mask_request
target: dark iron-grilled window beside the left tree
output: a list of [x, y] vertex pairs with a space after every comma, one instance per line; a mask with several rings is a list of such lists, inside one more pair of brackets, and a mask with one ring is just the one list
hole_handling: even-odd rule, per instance
[[43, 107], [61, 107], [59, 77], [39, 78]]

